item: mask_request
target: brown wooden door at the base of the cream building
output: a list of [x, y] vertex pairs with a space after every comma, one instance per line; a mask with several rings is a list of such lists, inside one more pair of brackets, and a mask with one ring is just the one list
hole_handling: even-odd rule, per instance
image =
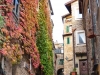
[[80, 69], [80, 75], [88, 75], [87, 60], [79, 61], [79, 69]]

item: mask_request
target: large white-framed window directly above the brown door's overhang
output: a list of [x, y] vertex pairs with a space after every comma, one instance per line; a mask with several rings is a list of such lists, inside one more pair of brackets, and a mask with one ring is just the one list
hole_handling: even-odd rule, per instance
[[81, 45], [81, 44], [85, 44], [85, 43], [86, 43], [85, 31], [84, 30], [77, 31], [76, 32], [76, 44]]

